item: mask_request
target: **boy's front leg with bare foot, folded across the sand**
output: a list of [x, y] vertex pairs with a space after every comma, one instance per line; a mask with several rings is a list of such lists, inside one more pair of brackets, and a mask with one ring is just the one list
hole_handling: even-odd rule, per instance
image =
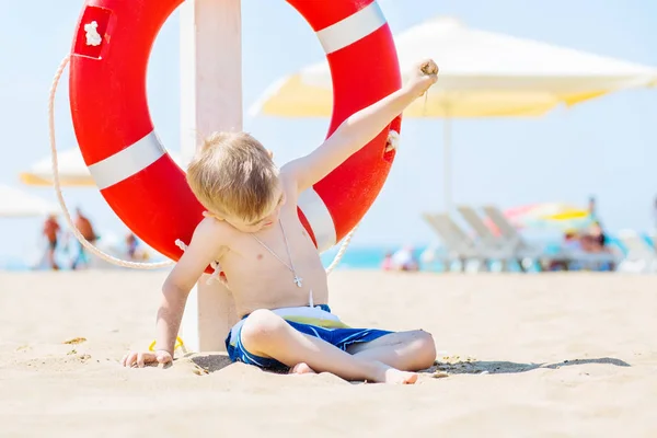
[[304, 335], [268, 310], [257, 310], [249, 315], [241, 330], [241, 342], [252, 355], [273, 358], [288, 367], [306, 362], [318, 372], [332, 372], [346, 380], [390, 383], [417, 380], [417, 374], [353, 356], [322, 339]]

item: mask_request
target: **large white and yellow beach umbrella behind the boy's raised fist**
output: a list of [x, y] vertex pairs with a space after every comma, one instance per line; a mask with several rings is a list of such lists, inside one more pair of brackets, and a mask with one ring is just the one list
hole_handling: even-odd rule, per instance
[[[652, 67], [484, 32], [451, 18], [414, 26], [395, 36], [395, 44], [404, 77], [426, 57], [440, 67], [439, 80], [426, 101], [418, 99], [404, 116], [446, 119], [448, 207], [450, 118], [540, 116], [560, 104], [575, 105], [610, 92], [657, 84], [657, 69]], [[331, 71], [323, 61], [274, 83], [250, 114], [328, 117], [332, 99]]]

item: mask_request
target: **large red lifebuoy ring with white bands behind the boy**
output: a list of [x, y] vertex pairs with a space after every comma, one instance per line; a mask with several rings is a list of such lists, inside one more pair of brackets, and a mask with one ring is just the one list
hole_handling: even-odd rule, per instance
[[[315, 31], [331, 68], [328, 136], [401, 87], [390, 27], [374, 0], [287, 0]], [[182, 0], [87, 0], [70, 60], [70, 105], [82, 157], [112, 209], [149, 245], [177, 260], [203, 207], [155, 134], [146, 92], [155, 36]], [[320, 251], [371, 207], [390, 171], [389, 129], [301, 194], [299, 218]], [[208, 268], [208, 272], [211, 272]]]

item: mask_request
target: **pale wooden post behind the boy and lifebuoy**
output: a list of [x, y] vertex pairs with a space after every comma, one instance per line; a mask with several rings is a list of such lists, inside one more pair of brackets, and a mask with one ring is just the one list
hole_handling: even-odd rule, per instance
[[[181, 141], [188, 162], [203, 138], [242, 130], [241, 0], [186, 0], [181, 18]], [[223, 351], [237, 322], [231, 292], [204, 275], [192, 290], [181, 336], [192, 351]]]

